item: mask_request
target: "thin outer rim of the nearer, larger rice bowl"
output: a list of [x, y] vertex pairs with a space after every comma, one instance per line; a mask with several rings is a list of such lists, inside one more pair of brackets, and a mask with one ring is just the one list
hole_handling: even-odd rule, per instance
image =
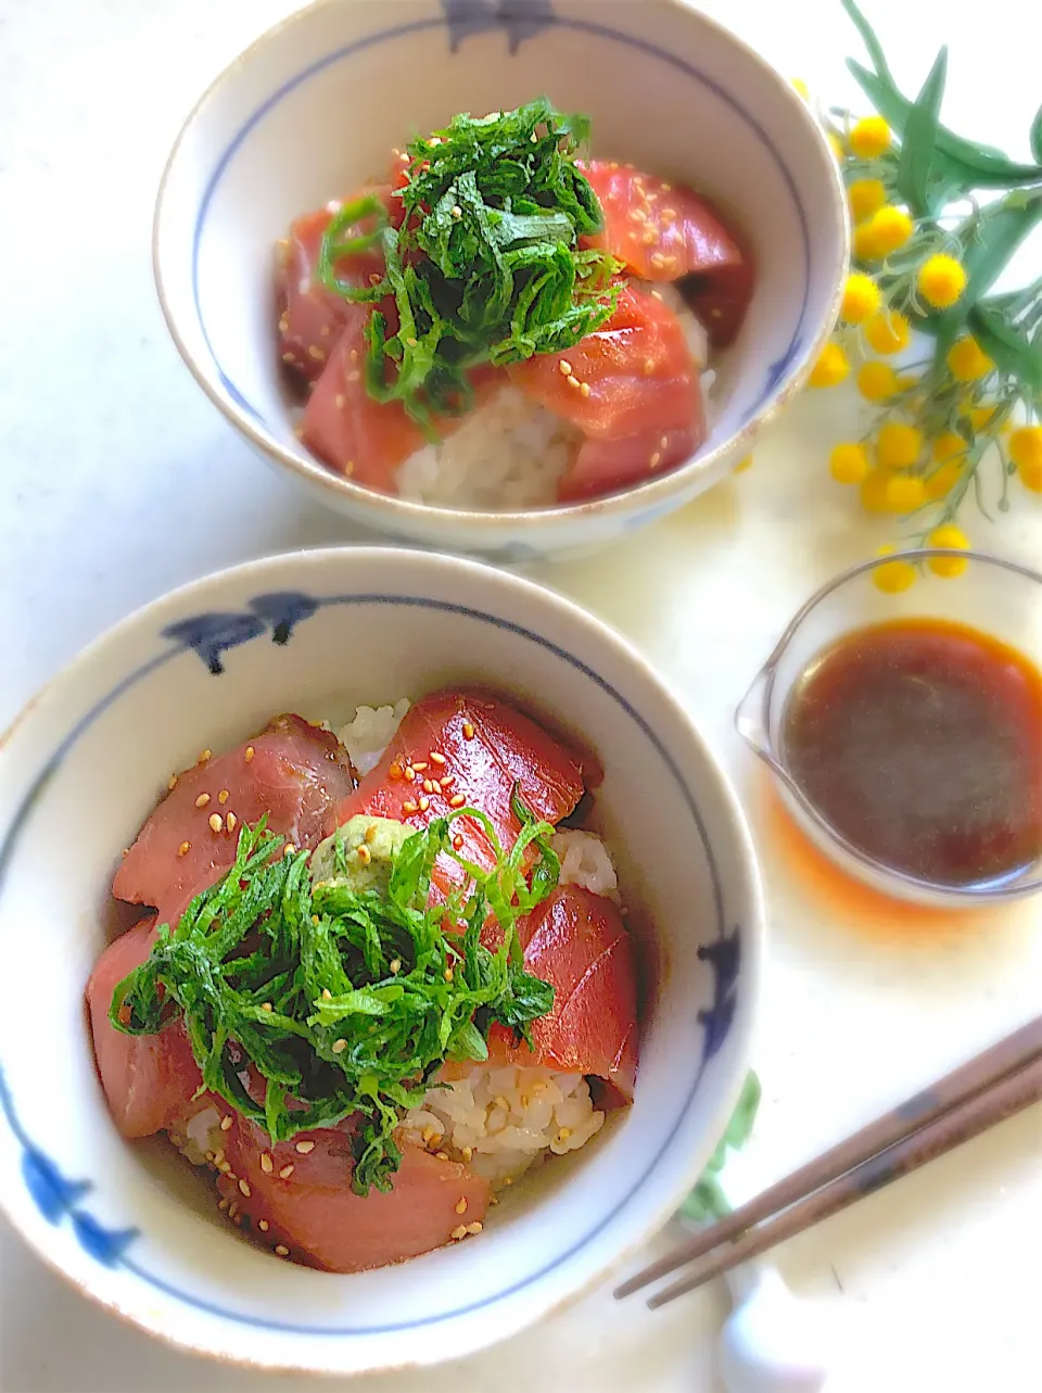
[[[276, 552], [258, 557], [249, 561], [237, 563], [228, 567], [223, 567], [217, 571], [212, 571], [203, 577], [194, 578], [184, 585], [174, 586], [170, 591], [145, 602], [138, 606], [130, 614], [120, 618], [117, 623], [111, 624], [103, 630], [96, 638], [86, 644], [54, 677], [45, 683], [33, 696], [22, 706], [22, 709], [15, 715], [14, 720], [10, 723], [6, 731], [0, 734], [0, 769], [3, 769], [6, 761], [10, 758], [11, 749], [17, 745], [20, 729], [22, 727], [26, 717], [29, 717], [38, 706], [45, 705], [47, 698], [56, 696], [63, 690], [74, 690], [75, 678], [81, 667], [95, 662], [104, 649], [113, 642], [118, 642], [139, 628], [142, 621], [146, 621], [155, 612], [162, 612], [162, 609], [174, 602], [181, 602], [188, 596], [196, 593], [205, 593], [212, 586], [223, 585], [224, 582], [237, 582], [244, 577], [256, 574], [262, 578], [270, 567], [277, 567], [280, 563], [302, 563], [308, 567], [315, 567], [315, 570], [322, 570], [326, 566], [336, 566], [339, 560], [344, 561], [359, 561], [365, 563], [368, 560], [379, 559], [384, 563], [400, 561], [403, 557], [408, 557], [415, 561], [421, 568], [429, 571], [442, 573], [464, 573], [474, 577], [475, 581], [492, 579], [503, 586], [507, 595], [514, 595], [521, 599], [527, 599], [529, 603], [536, 606], [543, 606], [550, 612], [561, 616], [567, 623], [575, 624], [580, 628], [585, 628], [588, 632], [598, 635], [598, 639], [606, 645], [607, 649], [613, 651], [619, 659], [627, 663], [637, 674], [641, 683], [649, 684], [660, 701], [663, 701], [671, 710], [673, 717], [677, 722], [680, 730], [683, 730], [685, 740], [698, 752], [699, 763], [706, 775], [706, 777], [713, 784], [713, 795], [720, 801], [726, 818], [726, 834], [731, 841], [733, 859], [736, 865], [736, 878], [738, 880], [738, 894], [745, 905], [745, 915], [742, 918], [742, 963], [741, 974], [744, 978], [742, 997], [745, 1002], [744, 1015], [745, 1027], [737, 1035], [736, 1039], [736, 1059], [731, 1066], [731, 1073], [726, 1077], [720, 1087], [720, 1100], [717, 1102], [715, 1126], [706, 1128], [706, 1141], [702, 1148], [706, 1155], [710, 1153], [712, 1144], [716, 1139], [716, 1133], [722, 1131], [727, 1123], [730, 1112], [733, 1110], [738, 1094], [741, 1091], [745, 1071], [748, 1068], [756, 1014], [759, 1010], [761, 996], [762, 996], [762, 974], [763, 974], [763, 958], [766, 949], [766, 925], [765, 925], [765, 897], [759, 871], [759, 862], [749, 832], [749, 826], [737, 797], [736, 790], [731, 786], [730, 776], [727, 775], [723, 763], [710, 749], [706, 737], [701, 733], [684, 703], [680, 701], [677, 692], [673, 690], [671, 684], [663, 678], [659, 671], [652, 666], [652, 663], [635, 648], [635, 645], [621, 632], [619, 632], [613, 625], [607, 624], [605, 620], [589, 613], [582, 606], [571, 600], [570, 598], [552, 591], [549, 586], [541, 585], [536, 581], [528, 579], [525, 577], [514, 575], [510, 571], [503, 571], [499, 567], [490, 566], [488, 563], [476, 561], [472, 559], [457, 557], [444, 553], [432, 553], [415, 547], [400, 547], [400, 546], [365, 546], [365, 545], [341, 545], [316, 549], [288, 549], [286, 552]], [[529, 623], [532, 623], [529, 620]], [[593, 669], [596, 673], [596, 669]], [[13, 830], [7, 827], [7, 830]], [[705, 1061], [703, 1061], [705, 1063]], [[703, 1066], [701, 1066], [703, 1067]], [[688, 1166], [688, 1177], [685, 1180], [684, 1191], [694, 1185], [698, 1178], [698, 1170], [692, 1163]], [[664, 1223], [669, 1222], [671, 1215], [683, 1198], [683, 1192], [671, 1194], [669, 1197], [659, 1197], [656, 1205], [649, 1205], [645, 1217], [639, 1226], [639, 1233], [627, 1238], [623, 1244], [614, 1247], [614, 1251], [596, 1259], [596, 1262], [581, 1272], [581, 1279], [568, 1290], [564, 1295], [557, 1298], [550, 1307], [541, 1309], [534, 1318], [522, 1321], [517, 1330], [528, 1329], [534, 1321], [545, 1319], [546, 1316], [559, 1314], [578, 1300], [581, 1300], [586, 1293], [600, 1284], [612, 1272], [617, 1270], [621, 1263], [628, 1258], [634, 1256], [641, 1251], [644, 1244], [662, 1229]], [[22, 1191], [18, 1191], [20, 1199], [22, 1198]], [[39, 1244], [33, 1233], [26, 1231], [21, 1223], [21, 1212], [24, 1205], [21, 1202], [13, 1204], [11, 1197], [7, 1194], [0, 1194], [0, 1212], [6, 1213], [8, 1222], [18, 1233], [21, 1241], [45, 1262], [47, 1268], [56, 1272], [63, 1280], [75, 1287], [82, 1295], [86, 1295], [96, 1305], [107, 1309], [113, 1315], [118, 1316], [125, 1323], [142, 1330], [143, 1333], [160, 1339], [164, 1344], [174, 1348], [185, 1350], [194, 1354], [203, 1355], [212, 1361], [221, 1364], [228, 1364], [234, 1367], [255, 1368], [265, 1371], [284, 1371], [284, 1372], [305, 1372], [305, 1373], [339, 1373], [340, 1376], [350, 1376], [351, 1373], [362, 1372], [378, 1372], [390, 1371], [393, 1368], [412, 1368], [422, 1367], [433, 1362], [443, 1362], [443, 1360], [450, 1358], [449, 1354], [439, 1354], [432, 1361], [414, 1361], [411, 1364], [397, 1365], [390, 1358], [380, 1358], [379, 1355], [364, 1365], [358, 1365], [352, 1369], [344, 1369], [334, 1360], [330, 1358], [305, 1358], [294, 1357], [288, 1353], [290, 1346], [287, 1344], [287, 1354], [281, 1354], [276, 1358], [272, 1357], [244, 1357], [233, 1350], [224, 1347], [217, 1347], [217, 1341], [208, 1336], [205, 1332], [199, 1333], [182, 1333], [178, 1326], [177, 1330], [171, 1329], [170, 1325], [160, 1328], [159, 1322], [149, 1323], [149, 1321], [138, 1311], [127, 1309], [125, 1304], [116, 1294], [104, 1294], [98, 1291], [96, 1286], [91, 1283], [89, 1279], [74, 1275], [63, 1263], [60, 1256], [56, 1256], [47, 1247]], [[134, 1275], [134, 1273], [131, 1273]], [[535, 1287], [538, 1290], [541, 1279], [535, 1279]], [[458, 1319], [457, 1316], [451, 1318]], [[224, 1325], [224, 1319], [219, 1318], [220, 1329]], [[468, 1344], [465, 1354], [478, 1354], [481, 1350], [497, 1343], [501, 1337], [514, 1333], [514, 1328], [504, 1330], [501, 1334], [496, 1330], [490, 1330], [488, 1339], [475, 1339]], [[315, 1351], [333, 1350], [341, 1341], [351, 1343], [352, 1336], [330, 1336], [325, 1341], [306, 1341], [297, 1340], [297, 1344], [304, 1347], [312, 1347]]]

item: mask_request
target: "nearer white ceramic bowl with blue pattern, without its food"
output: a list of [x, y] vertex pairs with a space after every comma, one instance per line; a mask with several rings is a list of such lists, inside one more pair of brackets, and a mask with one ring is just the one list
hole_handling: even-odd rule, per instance
[[[518, 692], [603, 759], [598, 808], [645, 929], [632, 1109], [518, 1184], [479, 1240], [330, 1276], [220, 1219], [202, 1176], [117, 1135], [82, 992], [109, 885], [173, 769], [273, 713], [456, 680]], [[0, 741], [0, 1205], [81, 1291], [185, 1348], [354, 1372], [465, 1354], [602, 1279], [677, 1206], [748, 1063], [762, 905], [727, 781], [645, 662], [527, 581], [426, 553], [290, 554], [139, 610], [46, 687]]]

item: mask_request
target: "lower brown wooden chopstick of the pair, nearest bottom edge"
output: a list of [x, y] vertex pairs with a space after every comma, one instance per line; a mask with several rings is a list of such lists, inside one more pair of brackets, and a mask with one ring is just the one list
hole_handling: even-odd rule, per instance
[[978, 1094], [960, 1107], [944, 1113], [929, 1127], [894, 1142], [893, 1146], [815, 1191], [769, 1223], [751, 1229], [736, 1243], [729, 1243], [723, 1248], [706, 1254], [680, 1282], [674, 1282], [651, 1297], [648, 1307], [655, 1311], [658, 1307], [684, 1295], [685, 1291], [701, 1287], [722, 1272], [730, 1272], [738, 1263], [766, 1252], [768, 1248], [773, 1248], [805, 1229], [811, 1229], [822, 1219], [827, 1219], [848, 1205], [857, 1204], [858, 1199], [864, 1199], [865, 1195], [871, 1195], [875, 1190], [882, 1190], [890, 1181], [918, 1170], [928, 1160], [943, 1156], [947, 1151], [954, 1151], [971, 1137], [978, 1137], [1006, 1117], [1013, 1117], [1021, 1109], [1036, 1103], [1039, 1098], [1042, 1098], [1042, 1060], [1035, 1060], [1034, 1064], [1028, 1064], [1002, 1080], [986, 1092]]

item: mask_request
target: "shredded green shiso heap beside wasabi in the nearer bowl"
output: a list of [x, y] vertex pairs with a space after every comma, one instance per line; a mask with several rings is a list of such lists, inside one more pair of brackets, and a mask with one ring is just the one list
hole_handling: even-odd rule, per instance
[[[117, 983], [111, 1024], [155, 1035], [182, 1013], [201, 1091], [274, 1142], [361, 1114], [352, 1188], [390, 1190], [401, 1160], [394, 1128], [442, 1064], [486, 1059], [495, 1021], [531, 1042], [531, 1022], [553, 1006], [553, 988], [524, 970], [515, 922], [554, 889], [560, 862], [553, 827], [517, 793], [514, 811], [522, 830], [508, 851], [475, 808], [435, 819], [401, 846], [384, 892], [336, 875], [312, 885], [308, 851], [277, 855], [283, 839], [265, 819], [244, 826], [227, 875], [176, 928], [163, 925], [148, 960]], [[453, 850], [450, 827], [462, 816], [488, 834], [492, 871]], [[525, 873], [529, 847], [538, 858]], [[471, 880], [430, 904], [440, 853]], [[344, 855], [341, 841], [341, 868]], [[490, 914], [503, 929], [495, 953], [479, 942]], [[265, 1080], [263, 1105], [240, 1077], [249, 1064]]]

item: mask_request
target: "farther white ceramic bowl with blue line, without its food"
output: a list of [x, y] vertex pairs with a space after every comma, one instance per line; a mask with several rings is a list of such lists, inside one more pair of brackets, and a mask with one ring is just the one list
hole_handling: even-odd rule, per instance
[[[570, 507], [467, 513], [359, 488], [293, 433], [272, 247], [298, 213], [384, 170], [415, 131], [542, 93], [592, 117], [596, 155], [692, 184], [751, 242], [756, 290], [715, 364], [712, 433], [674, 472]], [[155, 224], [181, 355], [263, 458], [368, 527], [499, 560], [605, 543], [723, 478], [804, 382], [846, 265], [846, 201], [818, 123], [773, 68], [680, 0], [325, 0], [270, 29], [206, 92]]]

